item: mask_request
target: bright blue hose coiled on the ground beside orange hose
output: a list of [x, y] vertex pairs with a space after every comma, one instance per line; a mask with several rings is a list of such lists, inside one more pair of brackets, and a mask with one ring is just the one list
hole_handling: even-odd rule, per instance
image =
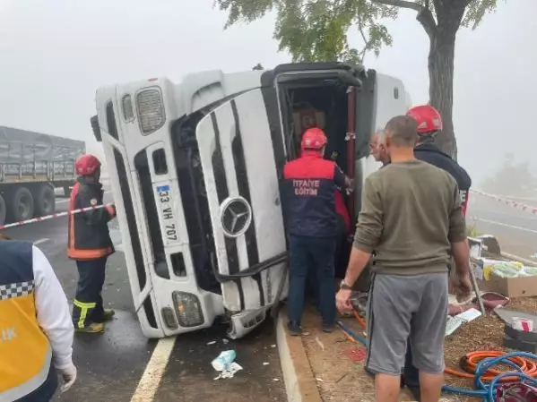
[[[365, 338], [356, 335], [351, 329], [343, 325], [341, 321], [338, 321], [337, 325], [339, 325], [342, 330], [347, 332], [347, 334], [351, 336], [351, 338], [354, 338], [356, 341], [358, 341], [364, 346], [368, 345], [368, 341]], [[537, 355], [533, 355], [532, 353], [527, 352], [511, 352], [499, 357], [489, 357], [481, 360], [481, 362], [477, 364], [475, 368], [474, 386], [476, 389], [464, 389], [445, 385], [444, 387], [442, 387], [442, 390], [445, 392], [451, 392], [459, 395], [466, 395], [468, 397], [481, 397], [481, 400], [483, 402], [494, 402], [496, 398], [495, 391], [499, 386], [499, 381], [504, 377], [518, 377], [521, 381], [529, 382], [533, 384], [533, 386], [537, 386], [537, 379], [534, 379], [533, 377], [524, 374], [524, 372], [522, 372], [521, 367], [509, 360], [512, 357], [525, 357], [537, 361]], [[490, 381], [489, 384], [485, 384], [481, 380], [481, 377], [485, 372], [487, 372], [487, 370], [489, 370], [489, 368], [496, 364], [507, 364], [513, 367], [516, 371], [503, 372], [501, 374], [498, 374], [496, 377], [494, 377], [492, 381]]]

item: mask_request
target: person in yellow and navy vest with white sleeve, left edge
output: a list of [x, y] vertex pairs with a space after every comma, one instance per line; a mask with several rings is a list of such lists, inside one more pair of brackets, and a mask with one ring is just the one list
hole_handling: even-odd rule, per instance
[[0, 235], [0, 402], [48, 402], [57, 373], [71, 388], [74, 328], [47, 257], [31, 243]]

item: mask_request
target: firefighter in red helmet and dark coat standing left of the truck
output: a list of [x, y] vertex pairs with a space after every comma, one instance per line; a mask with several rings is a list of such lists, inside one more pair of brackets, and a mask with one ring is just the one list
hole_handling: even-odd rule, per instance
[[[100, 184], [99, 159], [82, 155], [74, 168], [79, 177], [71, 192], [69, 210], [102, 205], [104, 191]], [[101, 296], [107, 259], [114, 252], [108, 221], [115, 217], [113, 204], [69, 216], [67, 256], [76, 261], [78, 268], [73, 323], [79, 332], [103, 332], [104, 322], [111, 320], [115, 313], [104, 309]]]

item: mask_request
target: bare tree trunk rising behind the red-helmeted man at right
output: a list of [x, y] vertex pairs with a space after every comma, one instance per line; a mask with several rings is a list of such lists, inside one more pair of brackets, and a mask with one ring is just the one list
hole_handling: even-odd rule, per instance
[[429, 101], [442, 115], [443, 129], [437, 135], [437, 145], [456, 158], [453, 126], [453, 76], [455, 62], [455, 32], [437, 30], [430, 38]]

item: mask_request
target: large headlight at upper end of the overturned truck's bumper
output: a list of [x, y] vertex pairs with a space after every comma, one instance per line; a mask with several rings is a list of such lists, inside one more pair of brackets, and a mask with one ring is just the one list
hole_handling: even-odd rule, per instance
[[156, 132], [166, 121], [162, 95], [156, 88], [141, 90], [136, 94], [136, 109], [140, 129], [145, 135]]

